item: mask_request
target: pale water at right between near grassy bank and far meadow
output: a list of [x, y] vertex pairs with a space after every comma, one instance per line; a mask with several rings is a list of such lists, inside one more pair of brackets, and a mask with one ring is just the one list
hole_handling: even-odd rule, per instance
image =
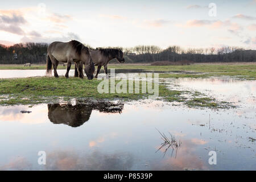
[[244, 107], [244, 111], [256, 110], [255, 80], [238, 80], [231, 77], [164, 78], [163, 82], [170, 89], [200, 92], [206, 97]]

